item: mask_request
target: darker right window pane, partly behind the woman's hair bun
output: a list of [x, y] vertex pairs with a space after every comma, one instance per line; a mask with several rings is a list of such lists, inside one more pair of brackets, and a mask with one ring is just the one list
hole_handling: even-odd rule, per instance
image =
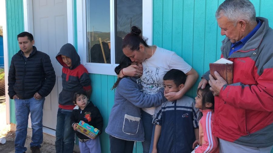
[[131, 32], [132, 26], [142, 31], [142, 0], [116, 0], [115, 6], [116, 64], [119, 64], [123, 38]]

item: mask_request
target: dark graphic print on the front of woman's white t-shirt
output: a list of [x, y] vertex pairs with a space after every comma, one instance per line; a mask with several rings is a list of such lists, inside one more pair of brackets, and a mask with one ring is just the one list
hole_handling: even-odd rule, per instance
[[158, 76], [159, 67], [143, 67], [143, 75], [141, 77], [141, 84], [143, 86], [144, 93], [155, 94], [162, 86], [160, 83], [160, 77]]

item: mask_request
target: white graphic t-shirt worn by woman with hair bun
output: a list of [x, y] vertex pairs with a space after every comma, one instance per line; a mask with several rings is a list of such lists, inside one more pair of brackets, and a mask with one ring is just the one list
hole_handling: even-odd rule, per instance
[[[191, 70], [191, 66], [178, 56], [175, 52], [157, 47], [155, 53], [149, 59], [142, 62], [143, 75], [140, 78], [144, 93], [155, 94], [164, 86], [163, 77], [171, 69], [178, 69], [184, 73]], [[143, 108], [151, 115], [154, 114], [155, 107]]]

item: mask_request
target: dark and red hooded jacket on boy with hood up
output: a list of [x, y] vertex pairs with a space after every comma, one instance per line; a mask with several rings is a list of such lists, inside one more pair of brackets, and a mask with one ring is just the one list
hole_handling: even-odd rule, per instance
[[[72, 65], [68, 67], [62, 61], [61, 55], [71, 59]], [[84, 90], [91, 90], [91, 80], [86, 68], [80, 63], [81, 59], [72, 44], [65, 44], [61, 47], [56, 56], [57, 61], [62, 67], [62, 91], [59, 94], [59, 108], [73, 110], [74, 93]]]

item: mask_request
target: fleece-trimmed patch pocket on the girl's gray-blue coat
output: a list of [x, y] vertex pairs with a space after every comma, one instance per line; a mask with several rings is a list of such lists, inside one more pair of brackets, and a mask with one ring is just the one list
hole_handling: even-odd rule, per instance
[[124, 115], [122, 131], [128, 135], [135, 135], [138, 132], [140, 117]]

